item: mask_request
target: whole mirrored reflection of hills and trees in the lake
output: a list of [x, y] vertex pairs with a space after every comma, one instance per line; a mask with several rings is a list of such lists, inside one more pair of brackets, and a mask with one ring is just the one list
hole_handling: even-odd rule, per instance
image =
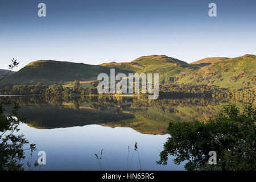
[[[13, 97], [19, 114], [38, 129], [98, 124], [131, 127], [140, 133], [166, 134], [168, 123], [208, 119], [220, 113], [228, 101], [185, 98], [147, 100], [143, 97], [77, 97], [56, 100], [44, 97]], [[242, 107], [242, 104], [238, 104]]]

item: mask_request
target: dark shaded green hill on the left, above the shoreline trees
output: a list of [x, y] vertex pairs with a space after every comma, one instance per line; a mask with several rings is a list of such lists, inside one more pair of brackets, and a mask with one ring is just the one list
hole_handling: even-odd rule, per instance
[[[116, 73], [127, 71], [116, 70]], [[98, 74], [107, 73], [110, 69], [100, 65], [89, 65], [84, 63], [71, 63], [67, 61], [39, 60], [34, 61], [20, 69], [13, 75], [1, 82], [4, 84], [35, 84], [44, 82], [51, 84], [58, 81], [74, 80], [96, 80]]]

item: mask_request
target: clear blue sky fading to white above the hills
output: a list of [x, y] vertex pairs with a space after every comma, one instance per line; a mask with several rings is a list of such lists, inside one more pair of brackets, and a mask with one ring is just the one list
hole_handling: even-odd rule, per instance
[[[38, 4], [46, 3], [46, 17]], [[209, 17], [208, 5], [217, 5]], [[255, 0], [1, 0], [0, 68], [40, 59], [101, 64], [256, 54]]]

